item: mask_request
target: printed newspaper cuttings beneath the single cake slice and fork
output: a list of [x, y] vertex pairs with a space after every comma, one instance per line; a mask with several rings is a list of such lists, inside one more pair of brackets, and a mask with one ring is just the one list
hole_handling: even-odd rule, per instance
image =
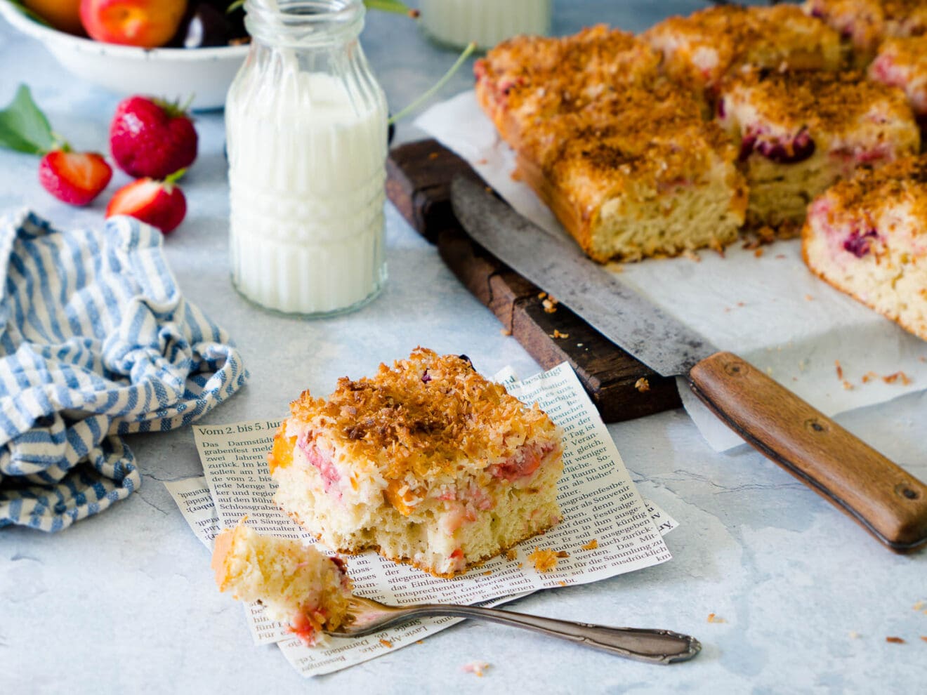
[[[515, 548], [516, 558], [497, 557], [455, 579], [439, 579], [373, 552], [348, 556], [355, 592], [387, 603], [423, 601], [496, 605], [539, 588], [584, 584], [670, 559], [663, 542], [678, 524], [652, 502], [641, 499], [616, 446], [585, 394], [576, 374], [562, 364], [523, 382], [505, 384], [527, 403], [535, 401], [565, 431], [565, 473], [558, 500], [564, 521], [541, 537]], [[211, 547], [218, 529], [248, 514], [261, 533], [314, 539], [273, 505], [266, 455], [279, 421], [195, 425], [205, 478], [171, 483], [168, 489], [197, 536]], [[205, 486], [204, 486], [205, 484]], [[208, 495], [215, 510], [207, 509]], [[590, 544], [591, 540], [595, 544]], [[596, 545], [584, 550], [583, 546]], [[554, 571], [540, 573], [527, 555], [535, 547], [564, 550]], [[246, 611], [256, 642], [278, 642], [286, 659], [304, 676], [330, 673], [362, 663], [437, 632], [457, 619], [429, 618], [360, 639], [329, 638], [304, 646], [284, 627], [268, 621], [260, 607]]]

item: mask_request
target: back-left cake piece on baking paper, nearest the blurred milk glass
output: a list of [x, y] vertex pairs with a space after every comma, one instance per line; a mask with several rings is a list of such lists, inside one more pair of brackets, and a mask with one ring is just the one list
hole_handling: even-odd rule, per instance
[[517, 36], [476, 61], [476, 98], [502, 139], [518, 147], [536, 121], [650, 84], [659, 65], [648, 44], [604, 25], [563, 38]]

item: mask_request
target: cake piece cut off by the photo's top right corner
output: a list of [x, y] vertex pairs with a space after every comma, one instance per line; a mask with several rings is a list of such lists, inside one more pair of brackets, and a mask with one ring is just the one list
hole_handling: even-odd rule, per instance
[[927, 33], [925, 0], [806, 0], [805, 11], [840, 32], [849, 61], [862, 69], [883, 40]]

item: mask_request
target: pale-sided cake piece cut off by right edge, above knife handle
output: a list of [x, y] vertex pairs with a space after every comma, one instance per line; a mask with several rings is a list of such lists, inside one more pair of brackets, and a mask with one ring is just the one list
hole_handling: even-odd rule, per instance
[[860, 171], [819, 196], [802, 254], [823, 280], [927, 340], [927, 156]]

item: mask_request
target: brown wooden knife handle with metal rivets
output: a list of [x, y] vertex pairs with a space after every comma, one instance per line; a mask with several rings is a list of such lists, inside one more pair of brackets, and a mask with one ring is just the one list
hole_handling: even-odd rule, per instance
[[927, 543], [927, 486], [749, 362], [717, 352], [692, 391], [738, 435], [892, 550]]

